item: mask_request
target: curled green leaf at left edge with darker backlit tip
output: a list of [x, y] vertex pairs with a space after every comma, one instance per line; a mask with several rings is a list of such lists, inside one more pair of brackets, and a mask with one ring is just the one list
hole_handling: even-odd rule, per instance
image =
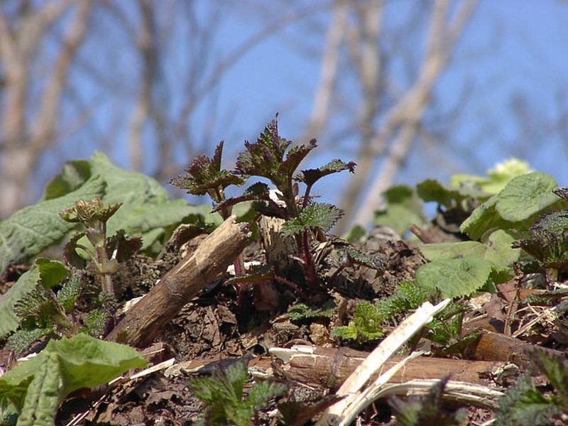
[[29, 271], [23, 273], [16, 284], [0, 298], [0, 339], [16, 331], [20, 324], [13, 310], [23, 295], [31, 292], [38, 283], [44, 283], [46, 288], [60, 283], [67, 275], [67, 269], [62, 263], [45, 258], [36, 259]]

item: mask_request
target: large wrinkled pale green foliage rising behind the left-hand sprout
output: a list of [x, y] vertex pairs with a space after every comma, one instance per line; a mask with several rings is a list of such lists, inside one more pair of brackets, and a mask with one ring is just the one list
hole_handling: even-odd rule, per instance
[[14, 263], [23, 263], [48, 247], [59, 244], [74, 222], [65, 222], [60, 212], [77, 200], [99, 197], [104, 204], [122, 203], [107, 223], [107, 233], [124, 229], [141, 234], [143, 249], [158, 253], [175, 226], [191, 217], [202, 217], [203, 209], [183, 200], [170, 200], [159, 182], [113, 165], [102, 153], [90, 160], [74, 160], [47, 187], [40, 202], [25, 207], [0, 222], [0, 274]]

